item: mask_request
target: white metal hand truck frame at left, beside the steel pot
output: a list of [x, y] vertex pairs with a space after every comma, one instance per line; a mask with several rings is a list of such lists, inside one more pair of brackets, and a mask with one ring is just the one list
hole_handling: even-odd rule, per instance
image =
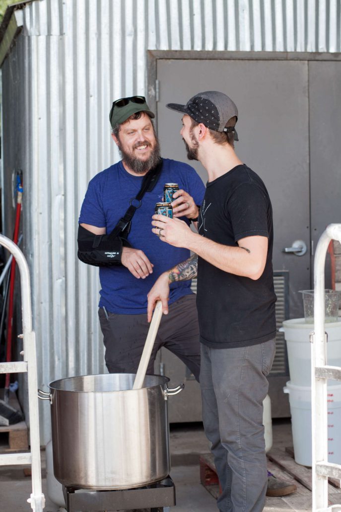
[[20, 272], [22, 337], [24, 361], [0, 363], [0, 373], [27, 372], [29, 415], [30, 415], [30, 446], [29, 453], [10, 453], [0, 455], [0, 465], [31, 464], [32, 494], [27, 500], [35, 512], [42, 512], [45, 497], [41, 491], [40, 438], [37, 396], [37, 358], [35, 333], [32, 331], [31, 285], [29, 268], [19, 247], [9, 238], [0, 235], [0, 244], [6, 247], [16, 260]]

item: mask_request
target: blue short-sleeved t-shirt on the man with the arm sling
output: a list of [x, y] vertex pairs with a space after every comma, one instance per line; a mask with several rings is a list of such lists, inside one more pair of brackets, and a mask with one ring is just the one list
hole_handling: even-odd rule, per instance
[[[125, 214], [130, 199], [134, 198], [142, 185], [143, 177], [133, 176], [125, 170], [122, 161], [97, 174], [88, 185], [82, 204], [79, 223], [106, 227], [110, 233]], [[100, 267], [99, 306], [120, 314], [140, 314], [147, 311], [147, 293], [162, 272], [190, 257], [190, 251], [162, 242], [152, 232], [152, 215], [155, 204], [162, 201], [165, 183], [178, 183], [197, 205], [201, 205], [205, 187], [190, 165], [175, 160], [163, 159], [163, 168], [158, 182], [151, 192], [146, 192], [142, 205], [135, 211], [131, 221], [128, 241], [135, 249], [141, 249], [154, 265], [153, 273], [145, 279], [137, 279], [123, 265]], [[182, 218], [187, 224], [189, 219]], [[191, 281], [172, 283], [169, 303], [191, 293]]]

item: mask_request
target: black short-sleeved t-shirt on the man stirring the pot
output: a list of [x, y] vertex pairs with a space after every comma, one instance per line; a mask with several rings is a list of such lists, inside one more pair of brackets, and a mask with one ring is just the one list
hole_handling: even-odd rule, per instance
[[199, 257], [200, 342], [212, 348], [236, 348], [274, 338], [272, 208], [260, 177], [246, 165], [237, 165], [207, 183], [198, 227], [203, 237], [233, 247], [245, 237], [268, 238], [265, 269], [257, 281], [220, 270]]

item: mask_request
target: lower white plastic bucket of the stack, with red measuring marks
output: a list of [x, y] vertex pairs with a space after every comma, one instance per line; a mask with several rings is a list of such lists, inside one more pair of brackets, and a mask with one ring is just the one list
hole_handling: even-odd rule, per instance
[[[295, 462], [311, 466], [311, 388], [286, 383]], [[341, 464], [341, 385], [328, 386], [328, 462]]]

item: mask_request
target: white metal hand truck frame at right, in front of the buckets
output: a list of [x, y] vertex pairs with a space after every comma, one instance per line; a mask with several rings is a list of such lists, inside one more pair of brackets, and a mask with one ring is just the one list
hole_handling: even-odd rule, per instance
[[311, 333], [312, 510], [339, 512], [328, 507], [328, 477], [341, 480], [341, 464], [328, 462], [327, 379], [341, 380], [341, 368], [327, 366], [325, 333], [325, 261], [331, 240], [341, 242], [341, 224], [330, 224], [316, 247], [314, 259], [314, 332]]

